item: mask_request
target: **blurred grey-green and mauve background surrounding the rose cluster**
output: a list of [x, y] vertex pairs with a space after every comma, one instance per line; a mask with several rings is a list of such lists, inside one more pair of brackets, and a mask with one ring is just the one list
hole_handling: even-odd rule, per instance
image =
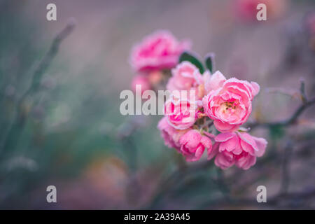
[[[202, 56], [215, 52], [227, 78], [260, 84], [249, 123], [290, 118], [301, 78], [315, 96], [315, 1], [265, 2], [259, 22], [255, 0], [0, 0], [0, 208], [315, 209], [314, 106], [288, 127], [258, 125], [265, 155], [224, 172], [167, 148], [161, 116], [119, 113], [132, 46], [168, 29]], [[46, 20], [48, 3], [57, 21]], [[69, 21], [76, 27], [36, 76]], [[46, 202], [50, 185], [57, 203]], [[256, 202], [260, 185], [267, 203]]]

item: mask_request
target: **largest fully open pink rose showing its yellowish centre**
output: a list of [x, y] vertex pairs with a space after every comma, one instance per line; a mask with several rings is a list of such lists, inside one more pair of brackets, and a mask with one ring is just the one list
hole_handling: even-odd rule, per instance
[[210, 92], [202, 99], [204, 113], [214, 120], [220, 132], [233, 132], [246, 122], [251, 114], [251, 101], [260, 88], [255, 82], [225, 80], [220, 72], [211, 76], [206, 87]]

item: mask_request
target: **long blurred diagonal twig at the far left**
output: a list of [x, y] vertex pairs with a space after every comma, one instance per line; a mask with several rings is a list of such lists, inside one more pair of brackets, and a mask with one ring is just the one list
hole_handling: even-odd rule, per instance
[[[40, 86], [41, 78], [43, 74], [48, 69], [49, 65], [51, 64], [52, 59], [54, 59], [54, 57], [57, 55], [60, 43], [62, 43], [62, 41], [67, 36], [69, 36], [69, 34], [71, 34], [71, 31], [73, 31], [74, 27], [75, 27], [75, 21], [71, 20], [68, 23], [68, 25], [66, 25], [66, 27], [59, 34], [57, 34], [57, 36], [55, 36], [54, 40], [52, 41], [52, 45], [50, 46], [50, 49], [48, 50], [46, 55], [43, 57], [43, 59], [38, 64], [37, 68], [35, 69], [33, 78], [31, 80], [31, 85], [18, 100], [17, 111], [15, 112], [15, 119], [13, 120], [13, 123], [10, 126], [10, 129], [8, 130], [8, 134], [6, 135], [6, 138], [3, 141], [3, 145], [1, 147], [1, 153], [3, 153], [3, 151], [6, 151], [6, 149], [8, 148], [13, 148], [15, 144], [17, 144], [18, 137], [20, 136], [22, 132], [22, 129], [25, 125], [25, 121], [27, 120], [27, 113], [23, 109], [25, 100], [27, 99], [27, 97], [29, 97], [38, 89], [38, 87]], [[13, 144], [13, 145], [10, 145], [10, 144]]]

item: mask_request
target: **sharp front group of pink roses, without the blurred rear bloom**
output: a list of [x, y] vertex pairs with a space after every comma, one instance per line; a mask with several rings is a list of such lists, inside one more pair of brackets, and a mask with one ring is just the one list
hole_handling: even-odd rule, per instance
[[[190, 97], [165, 102], [165, 117], [158, 124], [165, 144], [187, 161], [200, 160], [207, 148], [208, 159], [215, 157], [216, 166], [249, 169], [265, 153], [265, 139], [239, 131], [251, 114], [251, 102], [259, 92], [257, 83], [226, 79], [220, 71], [201, 74], [194, 64], [181, 62], [172, 70], [167, 89], [196, 92], [195, 102]], [[203, 127], [207, 120], [213, 120], [221, 133], [209, 133]]]

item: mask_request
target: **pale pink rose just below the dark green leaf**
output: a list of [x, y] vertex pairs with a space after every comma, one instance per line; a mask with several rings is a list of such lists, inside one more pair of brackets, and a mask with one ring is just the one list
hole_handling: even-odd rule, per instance
[[199, 69], [190, 62], [181, 62], [172, 69], [172, 77], [167, 83], [167, 90], [190, 90], [202, 83], [202, 75]]

